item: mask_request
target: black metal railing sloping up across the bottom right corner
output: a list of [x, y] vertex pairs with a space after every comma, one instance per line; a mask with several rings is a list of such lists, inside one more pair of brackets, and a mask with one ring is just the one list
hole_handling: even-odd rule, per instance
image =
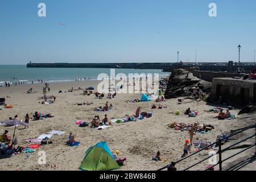
[[[226, 147], [226, 148], [224, 148], [224, 149], [221, 148], [221, 143], [222, 143], [224, 140], [228, 140], [230, 137], [233, 137], [234, 135], [240, 134], [240, 133], [242, 133], [243, 131], [246, 131], [246, 130], [249, 130], [249, 129], [253, 129], [253, 128], [255, 128], [255, 134], [251, 135], [250, 137], [246, 137], [245, 139], [242, 139], [242, 140], [240, 140], [240, 141], [238, 141], [238, 142], [236, 142], [236, 143], [230, 145], [229, 147]], [[226, 159], [222, 159], [222, 153], [223, 153], [223, 152], [225, 152], [225, 151], [227, 151], [229, 148], [234, 147], [234, 146], [236, 146], [236, 145], [239, 144], [239, 143], [245, 142], [246, 140], [248, 140], [248, 139], [250, 139], [250, 138], [253, 138], [253, 137], [255, 137], [255, 143], [254, 143], [254, 144], [251, 144], [250, 146], [246, 147], [244, 150], [239, 151], [239, 152], [237, 152], [236, 154], [233, 154], [233, 155], [229, 156], [229, 157], [226, 158]], [[172, 162], [170, 165], [167, 165], [167, 166], [164, 166], [164, 167], [158, 169], [157, 171], [162, 171], [163, 169], [168, 168], [168, 166], [174, 167], [175, 164], [180, 163], [181, 161], [183, 161], [183, 160], [185, 160], [185, 159], [187, 159], [187, 158], [191, 158], [191, 156], [194, 156], [194, 155], [198, 154], [199, 152], [204, 151], [204, 150], [206, 150], [207, 148], [209, 148], [209, 147], [211, 147], [211, 146], [215, 146], [216, 144], [218, 144], [218, 152], [216, 153], [216, 155], [218, 154], [218, 162], [217, 162], [217, 164], [214, 164], [214, 165], [208, 167], [207, 169], [205, 169], [205, 171], [207, 171], [207, 170], [209, 170], [210, 168], [213, 168], [214, 166], [217, 166], [217, 165], [219, 166], [219, 170], [222, 171], [222, 163], [223, 163], [223, 162], [225, 162], [226, 160], [228, 160], [228, 159], [230, 159], [230, 158], [233, 158], [234, 156], [236, 156], [236, 155], [238, 155], [238, 154], [241, 154], [242, 152], [248, 150], [248, 149], [251, 148], [251, 147], [256, 146], [256, 123], [255, 123], [254, 125], [251, 125], [251, 126], [248, 126], [248, 127], [243, 128], [243, 129], [240, 129], [240, 131], [236, 131], [235, 133], [233, 133], [233, 134], [231, 134], [231, 135], [228, 135], [228, 136], [225, 137], [225, 138], [220, 138], [220, 139], [218, 139], [216, 142], [214, 142], [214, 143], [212, 143], [212, 144], [210, 144], [210, 145], [208, 145], [208, 146], [206, 146], [206, 147], [204, 147], [204, 148], [201, 148], [199, 151], [193, 152], [192, 154], [190, 154], [190, 155], [188, 155], [188, 156], [185, 156], [184, 158], [181, 158], [181, 159], [177, 160], [176, 162]], [[256, 147], [255, 147], [254, 154], [256, 154]], [[189, 168], [192, 168], [192, 167], [194, 167], [194, 166], [197, 166], [197, 164], [200, 164], [200, 163], [204, 162], [205, 160], [207, 160], [207, 159], [209, 159], [209, 158], [212, 158], [212, 155], [209, 155], [209, 156], [207, 156], [207, 158], [201, 159], [199, 162], [196, 162], [195, 164], [192, 164], [191, 166], [189, 166], [189, 167], [187, 167], [187, 168], [184, 168], [182, 171], [186, 171], [186, 170], [189, 169]], [[230, 169], [230, 168], [229, 168], [229, 169]]]

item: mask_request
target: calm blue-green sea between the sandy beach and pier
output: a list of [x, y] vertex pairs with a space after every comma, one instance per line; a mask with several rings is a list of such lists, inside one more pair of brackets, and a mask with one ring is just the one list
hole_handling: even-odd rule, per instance
[[[108, 68], [27, 68], [26, 65], [0, 65], [0, 84], [7, 82], [38, 82], [42, 79], [45, 82], [75, 81], [77, 78], [88, 78], [97, 80], [100, 73], [106, 73], [110, 77]], [[169, 75], [168, 72], [161, 72], [158, 69], [115, 69], [118, 73], [159, 73], [159, 76]]]

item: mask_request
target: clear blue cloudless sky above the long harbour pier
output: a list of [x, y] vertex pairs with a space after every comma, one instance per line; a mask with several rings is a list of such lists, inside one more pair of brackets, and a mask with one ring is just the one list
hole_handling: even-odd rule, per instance
[[0, 1], [0, 64], [253, 61], [255, 34], [255, 0]]

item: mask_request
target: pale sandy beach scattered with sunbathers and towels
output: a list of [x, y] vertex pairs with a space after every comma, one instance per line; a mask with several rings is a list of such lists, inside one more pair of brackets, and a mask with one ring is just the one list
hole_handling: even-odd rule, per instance
[[[34, 153], [31, 153], [28, 159], [27, 154], [19, 154], [11, 158], [1, 159], [1, 170], [79, 170], [85, 151], [101, 140], [108, 142], [112, 152], [119, 150], [119, 155], [127, 158], [125, 166], [122, 166], [120, 170], [156, 170], [172, 161], [180, 159], [183, 154], [184, 141], [189, 139], [188, 131], [176, 131], [168, 127], [174, 121], [185, 123], [199, 122], [213, 125], [215, 129], [210, 134], [197, 134], [194, 138], [194, 140], [207, 140], [210, 142], [216, 141], [217, 135], [221, 133], [221, 130], [229, 131], [253, 123], [252, 121], [241, 122], [240, 119], [225, 121], [213, 119], [217, 114], [204, 111], [213, 108], [213, 106], [207, 105], [203, 101], [183, 100], [183, 103], [178, 105], [177, 99], [171, 99], [160, 103], [167, 106], [167, 109], [150, 109], [152, 104], [158, 105], [158, 103], [154, 100], [138, 103], [125, 102], [127, 100], [140, 99], [141, 94], [117, 94], [112, 100], [106, 97], [99, 100], [94, 94], [83, 96], [82, 90], [72, 93], [58, 93], [59, 89], [65, 91], [72, 86], [74, 89], [77, 89], [79, 86], [82, 88], [86, 86], [97, 88], [97, 81], [52, 83], [49, 85], [51, 91], [50, 93], [47, 92], [47, 96], [56, 96], [56, 102], [54, 104], [42, 105], [39, 102], [43, 100], [39, 98], [43, 96], [43, 86], [44, 84], [36, 84], [0, 88], [0, 97], [11, 96], [6, 98], [6, 103], [14, 105], [12, 109], [0, 110], [1, 121], [14, 117], [16, 114], [24, 121], [27, 113], [32, 116], [35, 111], [40, 111], [44, 114], [51, 113], [55, 116], [39, 121], [30, 120], [28, 129], [18, 126], [19, 130], [16, 130], [15, 135], [18, 138], [19, 146], [27, 145], [24, 141], [25, 139], [37, 138], [39, 135], [48, 133], [51, 130], [65, 131], [65, 134], [53, 135], [50, 139], [53, 144], [40, 147]], [[37, 93], [27, 94], [27, 90], [31, 87]], [[76, 104], [76, 102], [83, 101], [93, 102], [94, 104], [90, 106], [78, 106]], [[112, 104], [115, 109], [107, 112], [93, 111], [95, 107], [104, 106], [106, 101]], [[94, 115], [97, 114], [100, 115], [101, 119], [104, 118], [104, 114], [108, 114], [109, 118], [123, 118], [126, 117], [126, 114], [135, 114], [135, 110], [139, 105], [142, 107], [142, 111], [152, 112], [152, 117], [144, 118], [137, 122], [114, 123], [111, 127], [104, 130], [79, 127], [75, 124], [79, 119], [90, 122]], [[199, 115], [195, 118], [190, 118], [182, 114], [188, 107], [191, 107], [191, 110], [198, 111]], [[176, 110], [180, 110], [181, 114], [175, 115]], [[238, 110], [232, 110], [232, 113], [237, 115]], [[2, 134], [5, 129], [9, 130], [9, 135], [13, 135], [14, 127], [1, 126], [0, 133]], [[79, 146], [65, 146], [68, 133], [71, 131], [76, 135], [76, 139], [81, 142]], [[46, 152], [46, 165], [38, 164], [39, 151]], [[167, 162], [151, 160], [157, 151], [161, 152], [163, 159], [167, 159]], [[177, 169], [180, 170], [189, 166], [189, 164], [195, 163], [195, 159], [208, 156], [208, 152], [205, 151], [195, 158], [189, 158], [177, 164]], [[56, 164], [56, 167], [52, 168], [51, 166], [54, 164]], [[207, 164], [208, 162], [193, 169], [204, 169]]]

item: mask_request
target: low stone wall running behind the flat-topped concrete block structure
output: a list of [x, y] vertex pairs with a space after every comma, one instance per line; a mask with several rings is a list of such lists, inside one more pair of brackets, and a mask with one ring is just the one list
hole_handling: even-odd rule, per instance
[[205, 81], [212, 81], [212, 78], [226, 77], [243, 77], [244, 74], [226, 73], [226, 72], [210, 72], [210, 71], [193, 71], [193, 76]]

